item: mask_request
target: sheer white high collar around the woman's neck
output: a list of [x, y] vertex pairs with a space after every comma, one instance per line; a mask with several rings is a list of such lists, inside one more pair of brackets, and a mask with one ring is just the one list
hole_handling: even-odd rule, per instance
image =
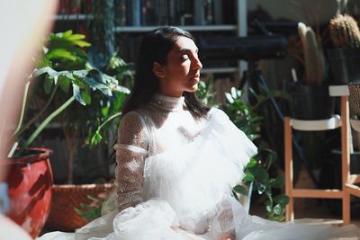
[[184, 111], [184, 96], [170, 97], [154, 93], [151, 103], [166, 111]]

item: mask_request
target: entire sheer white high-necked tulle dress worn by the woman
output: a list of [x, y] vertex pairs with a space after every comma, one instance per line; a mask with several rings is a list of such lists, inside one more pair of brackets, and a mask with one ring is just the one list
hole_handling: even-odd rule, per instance
[[328, 239], [360, 236], [354, 226], [280, 224], [247, 215], [231, 196], [257, 147], [228, 116], [211, 109], [196, 119], [184, 97], [155, 94], [121, 120], [115, 146], [116, 209], [76, 233], [40, 239], [219, 240]]

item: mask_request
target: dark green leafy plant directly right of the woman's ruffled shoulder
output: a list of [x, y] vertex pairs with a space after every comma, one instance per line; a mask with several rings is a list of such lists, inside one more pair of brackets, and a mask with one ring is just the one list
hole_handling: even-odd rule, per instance
[[[257, 142], [258, 155], [250, 159], [245, 168], [245, 177], [243, 184], [234, 187], [234, 191], [239, 194], [247, 195], [253, 191], [266, 196], [266, 214], [267, 218], [284, 221], [285, 206], [289, 201], [286, 195], [279, 194], [274, 196], [275, 188], [284, 186], [284, 177], [272, 177], [270, 175], [271, 166], [275, 163], [276, 153], [268, 147], [268, 144], [261, 140], [260, 127], [262, 118], [257, 115], [256, 110], [259, 105], [266, 102], [265, 96], [257, 96], [257, 104], [250, 105], [242, 99], [243, 92], [231, 88], [231, 93], [225, 93], [227, 103], [223, 106], [224, 111], [228, 114], [229, 119], [244, 131], [248, 138]], [[264, 159], [264, 160], [263, 160]], [[249, 191], [247, 191], [249, 188]], [[236, 194], [234, 194], [236, 196]]]

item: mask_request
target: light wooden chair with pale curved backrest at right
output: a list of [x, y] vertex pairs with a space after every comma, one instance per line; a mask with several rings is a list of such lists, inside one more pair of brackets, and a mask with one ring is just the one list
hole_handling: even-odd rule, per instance
[[[330, 96], [340, 97], [341, 116], [334, 116], [329, 120], [294, 120], [284, 117], [284, 147], [285, 147], [285, 193], [290, 197], [286, 206], [286, 220], [294, 219], [293, 200], [295, 198], [324, 198], [342, 200], [342, 222], [350, 223], [350, 195], [360, 197], [360, 174], [350, 175], [350, 149], [349, 149], [349, 106], [347, 85], [329, 86]], [[357, 121], [360, 131], [360, 123]], [[293, 129], [303, 131], [328, 130], [341, 128], [341, 189], [294, 189], [293, 188]]]

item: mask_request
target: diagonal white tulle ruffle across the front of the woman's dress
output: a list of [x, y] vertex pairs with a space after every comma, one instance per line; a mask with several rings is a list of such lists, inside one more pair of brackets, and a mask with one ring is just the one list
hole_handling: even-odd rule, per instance
[[207, 229], [209, 212], [231, 194], [248, 160], [257, 153], [257, 147], [222, 111], [211, 111], [209, 125], [192, 143], [145, 161], [144, 199], [169, 202], [180, 225], [193, 232]]

